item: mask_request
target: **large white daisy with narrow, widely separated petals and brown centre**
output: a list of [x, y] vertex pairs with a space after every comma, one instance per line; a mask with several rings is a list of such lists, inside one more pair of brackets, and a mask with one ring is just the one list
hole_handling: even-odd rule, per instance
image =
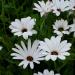
[[28, 40], [28, 47], [26, 48], [23, 41], [21, 41], [21, 46], [15, 44], [16, 48], [12, 48], [16, 53], [12, 53], [13, 59], [21, 60], [19, 66], [23, 65], [25, 69], [28, 65], [30, 68], [34, 68], [34, 63], [40, 64], [41, 60], [44, 60], [43, 54], [40, 49], [38, 49], [39, 41], [35, 40], [31, 47], [31, 40]]

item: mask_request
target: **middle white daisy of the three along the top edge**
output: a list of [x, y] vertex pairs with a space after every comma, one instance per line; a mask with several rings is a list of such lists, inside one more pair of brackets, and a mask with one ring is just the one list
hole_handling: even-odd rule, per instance
[[69, 1], [68, 0], [52, 0], [53, 3], [53, 13], [55, 13], [57, 16], [60, 15], [61, 12], [67, 11], [70, 9]]

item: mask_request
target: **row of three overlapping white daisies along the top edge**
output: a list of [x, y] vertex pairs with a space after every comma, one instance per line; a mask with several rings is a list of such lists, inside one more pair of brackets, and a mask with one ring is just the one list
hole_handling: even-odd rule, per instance
[[47, 0], [46, 3], [44, 1], [38, 3], [34, 3], [33, 9], [40, 12], [41, 17], [49, 12], [59, 16], [61, 12], [75, 10], [75, 0]]

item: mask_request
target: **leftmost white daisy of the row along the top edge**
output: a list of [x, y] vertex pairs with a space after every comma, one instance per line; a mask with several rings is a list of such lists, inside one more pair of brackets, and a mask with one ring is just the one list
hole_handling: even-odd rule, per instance
[[35, 8], [33, 8], [33, 10], [40, 12], [41, 17], [52, 11], [52, 3], [49, 0], [46, 3], [43, 0], [38, 1], [38, 3], [39, 4], [34, 3]]

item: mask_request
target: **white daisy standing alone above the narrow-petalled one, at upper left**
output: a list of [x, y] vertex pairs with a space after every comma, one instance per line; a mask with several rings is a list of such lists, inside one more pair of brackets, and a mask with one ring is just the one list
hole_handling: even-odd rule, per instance
[[11, 22], [9, 28], [14, 35], [23, 36], [24, 39], [28, 39], [28, 36], [32, 36], [37, 32], [33, 30], [36, 20], [31, 19], [31, 17], [21, 18], [21, 21], [15, 19], [14, 22]]

